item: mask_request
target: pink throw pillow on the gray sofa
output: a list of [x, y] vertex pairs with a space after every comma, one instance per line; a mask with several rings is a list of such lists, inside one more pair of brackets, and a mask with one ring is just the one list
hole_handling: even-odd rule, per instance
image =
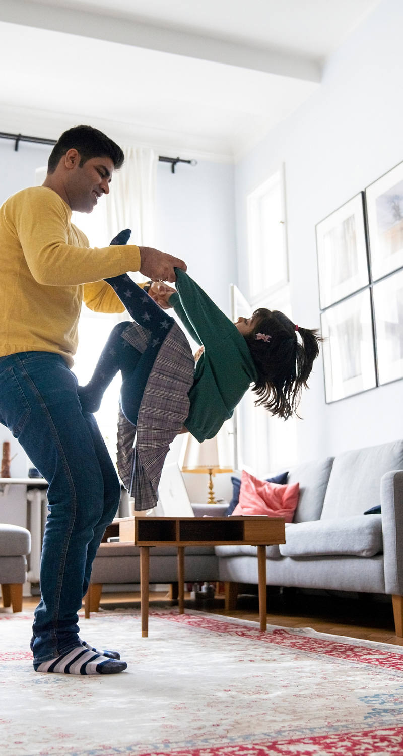
[[268, 515], [293, 521], [299, 499], [299, 483], [279, 485], [258, 480], [245, 470], [240, 479], [239, 502], [233, 515]]

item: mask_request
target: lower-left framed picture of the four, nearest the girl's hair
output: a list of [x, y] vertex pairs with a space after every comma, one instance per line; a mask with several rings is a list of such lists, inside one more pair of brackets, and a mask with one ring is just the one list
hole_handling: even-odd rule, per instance
[[358, 394], [377, 385], [370, 290], [321, 313], [326, 401]]

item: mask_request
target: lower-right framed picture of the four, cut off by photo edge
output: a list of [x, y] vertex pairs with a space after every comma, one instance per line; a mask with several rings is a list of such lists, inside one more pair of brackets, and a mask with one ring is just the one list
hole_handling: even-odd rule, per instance
[[403, 378], [403, 271], [374, 283], [375, 333], [380, 383]]

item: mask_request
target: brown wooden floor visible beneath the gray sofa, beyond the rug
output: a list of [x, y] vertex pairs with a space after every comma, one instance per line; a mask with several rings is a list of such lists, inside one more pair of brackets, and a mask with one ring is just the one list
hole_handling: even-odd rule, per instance
[[[23, 611], [35, 609], [38, 601], [38, 596], [24, 597]], [[101, 609], [125, 608], [134, 603], [140, 603], [139, 593], [103, 593], [101, 597]], [[150, 603], [167, 606], [170, 602], [165, 592], [151, 592]], [[190, 599], [189, 593], [185, 593], [186, 609], [200, 609], [203, 612], [259, 621], [257, 596], [241, 595], [238, 597], [237, 609], [225, 612], [221, 596], [196, 603]], [[9, 612], [10, 609], [6, 611]], [[269, 593], [267, 618], [268, 624], [280, 627], [312, 627], [321, 633], [403, 646], [403, 638], [395, 636], [392, 603], [365, 594], [349, 599], [338, 595], [308, 595], [293, 590], [283, 594]]]

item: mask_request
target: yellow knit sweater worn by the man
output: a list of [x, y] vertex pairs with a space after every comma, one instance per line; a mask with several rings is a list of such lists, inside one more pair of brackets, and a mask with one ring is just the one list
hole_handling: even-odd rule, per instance
[[23, 189], [0, 208], [0, 356], [57, 352], [71, 367], [82, 301], [124, 311], [102, 279], [138, 271], [138, 246], [88, 248], [70, 218], [47, 187]]

